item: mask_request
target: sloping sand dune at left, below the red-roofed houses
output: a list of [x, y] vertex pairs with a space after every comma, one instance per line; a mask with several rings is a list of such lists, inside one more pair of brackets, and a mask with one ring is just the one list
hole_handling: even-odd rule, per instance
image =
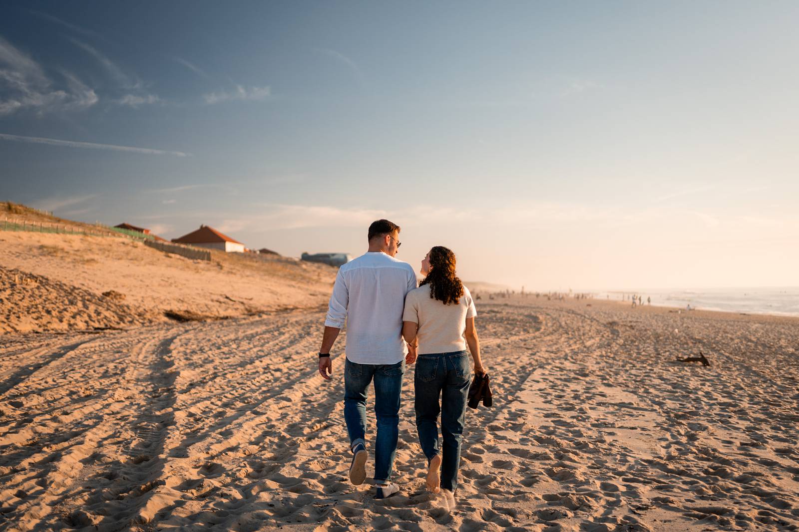
[[320, 308], [335, 276], [288, 257], [190, 260], [127, 238], [0, 231], [0, 334]]

